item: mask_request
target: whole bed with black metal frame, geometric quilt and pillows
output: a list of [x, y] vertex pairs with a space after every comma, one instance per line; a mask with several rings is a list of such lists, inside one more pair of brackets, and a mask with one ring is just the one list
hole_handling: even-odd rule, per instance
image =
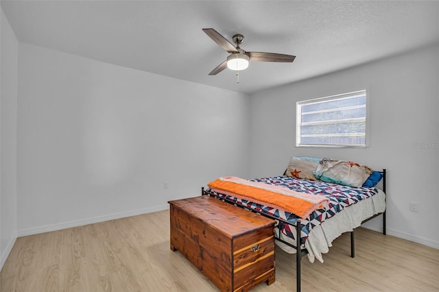
[[[360, 175], [353, 173], [353, 167], [361, 168]], [[328, 169], [338, 176], [331, 175], [331, 171], [325, 172]], [[373, 175], [375, 178], [370, 182]], [[385, 169], [372, 171], [369, 167], [355, 162], [292, 157], [283, 175], [248, 181], [235, 177], [219, 178], [209, 183], [207, 188], [202, 188], [202, 195], [221, 199], [276, 220], [276, 245], [285, 252], [296, 254], [296, 291], [300, 291], [302, 256], [307, 255], [311, 263], [315, 259], [323, 263], [322, 255], [329, 252], [332, 241], [344, 232], [351, 232], [351, 256], [354, 257], [355, 228], [381, 214], [385, 234], [385, 176]], [[364, 178], [366, 180], [362, 182]], [[377, 187], [378, 182], [380, 188]], [[240, 190], [230, 188], [230, 184], [239, 184]], [[256, 188], [264, 188], [264, 192], [270, 191], [269, 195], [272, 197], [261, 199], [257, 195], [250, 195], [252, 192], [260, 191]], [[278, 192], [278, 188], [282, 190]], [[290, 193], [284, 193], [285, 188], [285, 192]], [[313, 205], [312, 210], [302, 212], [307, 207], [292, 209], [283, 196], [294, 196], [296, 193], [312, 193], [323, 198]], [[275, 201], [276, 198], [273, 197], [277, 196], [281, 199]], [[292, 204], [296, 204], [296, 201]]]

